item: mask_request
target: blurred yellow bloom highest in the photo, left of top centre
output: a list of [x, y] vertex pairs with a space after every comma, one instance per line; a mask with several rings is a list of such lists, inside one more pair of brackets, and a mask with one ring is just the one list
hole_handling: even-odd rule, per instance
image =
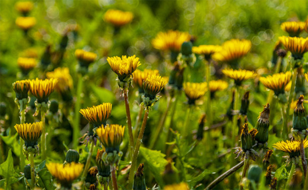
[[123, 12], [114, 9], [109, 9], [104, 15], [104, 21], [111, 23], [116, 27], [130, 23], [133, 18], [134, 15], [132, 12]]

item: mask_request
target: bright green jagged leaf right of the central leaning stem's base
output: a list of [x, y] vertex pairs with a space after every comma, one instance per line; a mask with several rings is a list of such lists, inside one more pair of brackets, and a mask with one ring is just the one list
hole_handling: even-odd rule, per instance
[[152, 171], [155, 180], [158, 185], [162, 186], [163, 181], [161, 173], [164, 171], [164, 167], [168, 163], [164, 157], [165, 154], [157, 150], [151, 150], [145, 147], [140, 147], [140, 155], [145, 159], [145, 167], [149, 167]]

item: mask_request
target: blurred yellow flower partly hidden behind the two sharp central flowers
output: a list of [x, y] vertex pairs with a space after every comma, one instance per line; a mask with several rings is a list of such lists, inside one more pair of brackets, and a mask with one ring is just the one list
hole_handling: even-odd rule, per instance
[[136, 70], [132, 74], [133, 82], [138, 86], [139, 92], [144, 92], [143, 82], [148, 78], [149, 75], [159, 75], [158, 70], [145, 69], [143, 71]]

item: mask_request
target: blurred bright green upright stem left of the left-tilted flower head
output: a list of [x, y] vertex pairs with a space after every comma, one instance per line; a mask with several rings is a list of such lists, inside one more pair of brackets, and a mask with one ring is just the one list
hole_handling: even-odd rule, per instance
[[80, 134], [79, 130], [79, 124], [80, 124], [80, 100], [81, 100], [81, 91], [82, 91], [82, 84], [83, 84], [83, 78], [81, 74], [78, 74], [78, 84], [77, 84], [77, 91], [76, 91], [76, 104], [75, 104], [75, 110], [74, 110], [74, 124], [73, 124], [73, 148], [77, 148], [78, 145], [78, 137]]

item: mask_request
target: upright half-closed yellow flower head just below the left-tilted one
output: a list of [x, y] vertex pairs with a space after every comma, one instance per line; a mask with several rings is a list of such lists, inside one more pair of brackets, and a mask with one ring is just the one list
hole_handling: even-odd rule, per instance
[[106, 152], [120, 151], [120, 144], [124, 138], [124, 126], [119, 124], [106, 124], [95, 130], [100, 142], [106, 149]]

